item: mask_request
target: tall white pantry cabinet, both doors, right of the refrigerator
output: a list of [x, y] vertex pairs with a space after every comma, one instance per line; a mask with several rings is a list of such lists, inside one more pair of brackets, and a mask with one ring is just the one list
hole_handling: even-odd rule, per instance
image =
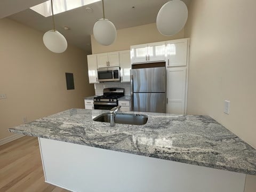
[[189, 39], [166, 42], [166, 113], [186, 114]]

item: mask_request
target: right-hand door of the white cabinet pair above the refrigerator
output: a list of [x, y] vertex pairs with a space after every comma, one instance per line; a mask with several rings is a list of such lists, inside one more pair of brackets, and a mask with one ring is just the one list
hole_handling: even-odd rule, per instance
[[165, 42], [156, 42], [148, 44], [148, 61], [165, 60]]

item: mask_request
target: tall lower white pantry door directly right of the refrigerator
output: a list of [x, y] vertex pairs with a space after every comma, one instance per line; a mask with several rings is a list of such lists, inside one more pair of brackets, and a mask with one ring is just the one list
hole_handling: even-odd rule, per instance
[[185, 114], [186, 68], [167, 69], [167, 106], [170, 114]]

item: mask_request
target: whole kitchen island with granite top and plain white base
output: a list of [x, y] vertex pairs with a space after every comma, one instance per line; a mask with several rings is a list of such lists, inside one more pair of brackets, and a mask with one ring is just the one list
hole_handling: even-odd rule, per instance
[[38, 137], [46, 182], [73, 191], [243, 191], [256, 175], [256, 150], [209, 116], [92, 121], [105, 112], [69, 109], [9, 131]]

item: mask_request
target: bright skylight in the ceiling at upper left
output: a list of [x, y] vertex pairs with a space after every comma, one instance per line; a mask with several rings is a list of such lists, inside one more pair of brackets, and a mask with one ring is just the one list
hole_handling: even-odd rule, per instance
[[[53, 0], [53, 13], [62, 13], [98, 1], [101, 0]], [[43, 15], [44, 17], [49, 17], [52, 15], [50, 0], [30, 7], [30, 9]]]

